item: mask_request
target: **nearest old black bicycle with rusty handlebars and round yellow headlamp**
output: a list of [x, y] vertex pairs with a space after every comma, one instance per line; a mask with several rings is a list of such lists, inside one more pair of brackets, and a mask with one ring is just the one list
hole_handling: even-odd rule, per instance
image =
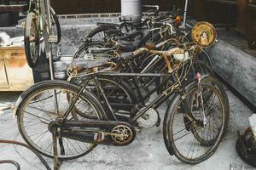
[[[183, 84], [188, 75], [183, 64], [192, 61], [201, 46], [215, 41], [212, 29], [207, 23], [200, 23], [192, 31], [194, 42], [180, 43], [178, 50], [140, 48], [131, 54], [131, 58], [145, 52], [162, 56], [166, 73], [93, 69], [81, 86], [56, 80], [35, 84], [21, 94], [16, 104], [15, 114], [22, 137], [44, 156], [55, 157], [55, 162], [84, 156], [96, 144], [124, 146], [134, 141], [138, 127], [159, 126], [160, 116], [156, 109], [172, 96], [163, 122], [166, 149], [186, 163], [205, 161], [217, 150], [224, 136], [229, 119], [226, 100], [216, 87], [218, 83], [213, 79], [204, 80], [200, 73], [196, 74], [195, 82]], [[202, 34], [207, 34], [207, 40], [202, 39]], [[85, 61], [74, 66], [88, 69]], [[98, 66], [99, 63], [90, 68]], [[113, 79], [116, 84], [124, 77], [131, 77], [135, 82], [137, 77], [163, 77], [164, 80], [175, 77], [175, 80], [147, 104], [138, 101], [129, 109], [129, 105], [113, 109], [110, 103], [113, 100], [108, 98], [113, 88], [99, 81], [101, 77], [118, 77]], [[90, 80], [96, 86], [88, 88]], [[164, 85], [166, 82], [161, 81], [160, 86]], [[124, 110], [130, 111], [130, 116], [122, 116]]]

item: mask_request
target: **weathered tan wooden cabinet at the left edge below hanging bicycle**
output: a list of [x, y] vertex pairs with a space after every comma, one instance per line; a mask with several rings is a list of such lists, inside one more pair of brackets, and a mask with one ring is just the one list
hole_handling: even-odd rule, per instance
[[33, 83], [24, 48], [0, 48], [0, 91], [24, 91]]

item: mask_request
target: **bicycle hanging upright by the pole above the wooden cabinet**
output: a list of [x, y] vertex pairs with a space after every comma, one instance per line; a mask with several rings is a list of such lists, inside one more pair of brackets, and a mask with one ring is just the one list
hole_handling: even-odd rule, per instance
[[[50, 23], [48, 18], [50, 18]], [[49, 0], [31, 0], [24, 29], [26, 60], [30, 67], [37, 65], [38, 57], [48, 50], [49, 42], [61, 41], [61, 26]], [[42, 45], [43, 42], [45, 45]], [[44, 46], [44, 48], [43, 48]]]

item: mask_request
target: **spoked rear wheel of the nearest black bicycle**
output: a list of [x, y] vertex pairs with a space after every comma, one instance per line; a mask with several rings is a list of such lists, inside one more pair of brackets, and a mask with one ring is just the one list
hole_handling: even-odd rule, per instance
[[[44, 156], [53, 157], [53, 139], [49, 132], [49, 123], [63, 117], [74, 97], [79, 93], [79, 86], [70, 82], [47, 81], [40, 82], [29, 88], [22, 94], [22, 101], [17, 110], [17, 122], [20, 134], [27, 144], [32, 146]], [[67, 94], [69, 99], [67, 99]], [[81, 94], [75, 106], [80, 111], [89, 113], [93, 119], [102, 120], [104, 110], [97, 99], [85, 91]], [[92, 118], [90, 118], [92, 119]], [[71, 111], [67, 120], [90, 120]], [[73, 139], [58, 139], [62, 143], [61, 152], [58, 154], [61, 160], [75, 159], [88, 154], [96, 147], [96, 144], [79, 142]], [[61, 146], [61, 144], [60, 144]]]

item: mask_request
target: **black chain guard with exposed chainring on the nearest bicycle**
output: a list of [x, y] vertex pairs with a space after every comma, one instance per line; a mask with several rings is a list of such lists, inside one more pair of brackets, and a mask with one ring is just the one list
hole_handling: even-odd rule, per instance
[[136, 130], [128, 122], [113, 121], [67, 121], [50, 122], [49, 131], [57, 130], [59, 138], [78, 140], [91, 144], [124, 146], [131, 144]]

